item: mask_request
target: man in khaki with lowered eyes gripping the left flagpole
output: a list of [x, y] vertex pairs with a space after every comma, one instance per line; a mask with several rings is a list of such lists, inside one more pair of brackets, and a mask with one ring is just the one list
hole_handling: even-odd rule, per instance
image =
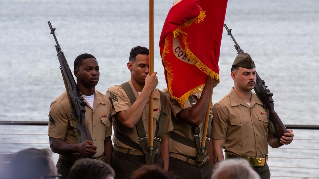
[[[156, 72], [149, 75], [149, 50], [140, 46], [132, 48], [127, 67], [130, 70], [131, 79], [106, 91], [106, 96], [113, 104], [111, 114], [114, 127], [112, 167], [115, 170], [116, 179], [130, 177], [132, 172], [145, 164], [145, 159], [148, 158], [145, 157], [148, 156], [148, 149], [145, 154], [143, 144], [148, 148], [148, 137], [146, 136], [149, 135], [149, 96], [152, 91], [154, 92], [152, 133], [153, 136], [156, 136], [157, 127], [159, 127], [158, 131], [164, 133], [161, 136], [158, 152], [153, 149], [153, 153], [156, 153], [153, 163], [166, 170], [168, 168], [167, 132], [174, 129], [169, 101], [164, 93], [155, 89], [158, 84]], [[136, 101], [131, 105], [132, 100]], [[161, 100], [166, 108], [162, 106]]]

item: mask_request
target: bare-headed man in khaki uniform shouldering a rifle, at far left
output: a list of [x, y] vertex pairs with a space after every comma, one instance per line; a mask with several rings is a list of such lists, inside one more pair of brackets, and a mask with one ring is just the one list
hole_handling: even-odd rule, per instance
[[106, 157], [110, 164], [112, 156], [112, 104], [95, 90], [100, 76], [96, 58], [91, 54], [81, 54], [74, 61], [74, 69], [86, 103], [85, 123], [93, 141], [77, 142], [69, 99], [66, 92], [62, 93], [50, 105], [48, 136], [52, 152], [59, 154], [56, 167], [63, 178], [68, 177], [70, 168], [80, 158], [102, 160]]

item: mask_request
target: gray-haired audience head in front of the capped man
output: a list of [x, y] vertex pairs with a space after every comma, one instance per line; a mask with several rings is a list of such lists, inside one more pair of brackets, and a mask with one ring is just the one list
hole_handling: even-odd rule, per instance
[[260, 179], [247, 160], [228, 159], [218, 163], [218, 165], [211, 179]]

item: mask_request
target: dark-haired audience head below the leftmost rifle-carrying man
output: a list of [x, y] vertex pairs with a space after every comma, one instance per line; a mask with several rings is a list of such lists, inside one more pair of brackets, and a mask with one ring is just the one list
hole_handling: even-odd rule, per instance
[[114, 169], [108, 164], [92, 159], [80, 159], [72, 166], [68, 179], [106, 179], [108, 176], [115, 176]]

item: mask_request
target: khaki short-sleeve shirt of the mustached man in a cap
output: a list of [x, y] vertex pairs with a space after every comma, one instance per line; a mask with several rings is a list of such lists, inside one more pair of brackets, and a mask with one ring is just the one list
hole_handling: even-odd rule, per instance
[[238, 97], [234, 89], [214, 104], [211, 138], [225, 141], [225, 152], [242, 157], [268, 154], [268, 137], [273, 136], [267, 111], [252, 93], [251, 105]]

